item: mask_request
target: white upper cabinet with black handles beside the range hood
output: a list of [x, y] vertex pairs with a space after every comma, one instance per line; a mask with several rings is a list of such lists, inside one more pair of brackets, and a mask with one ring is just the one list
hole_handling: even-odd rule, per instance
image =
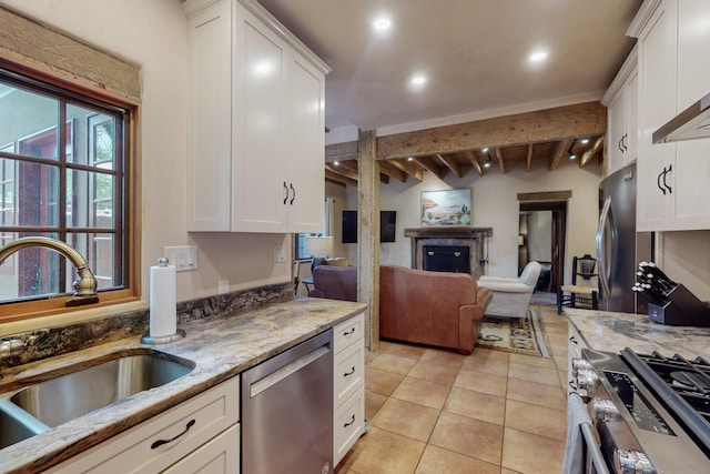
[[708, 92], [691, 89], [702, 89], [697, 75], [710, 69], [702, 57], [702, 44], [706, 49], [710, 44], [703, 36], [708, 33], [698, 33], [694, 24], [702, 18], [708, 22], [710, 2], [651, 3], [658, 4], [638, 36], [641, 142], [637, 229], [710, 229], [710, 140], [652, 143], [658, 128]]

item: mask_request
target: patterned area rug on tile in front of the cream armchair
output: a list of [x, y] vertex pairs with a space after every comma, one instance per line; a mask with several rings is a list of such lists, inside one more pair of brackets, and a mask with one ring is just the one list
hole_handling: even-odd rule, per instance
[[476, 345], [539, 357], [552, 355], [537, 309], [528, 309], [526, 317], [484, 317]]

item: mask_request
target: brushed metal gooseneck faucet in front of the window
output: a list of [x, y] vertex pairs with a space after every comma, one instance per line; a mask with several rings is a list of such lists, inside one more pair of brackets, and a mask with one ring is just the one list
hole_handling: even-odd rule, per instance
[[69, 259], [74, 268], [77, 268], [79, 279], [73, 283], [74, 297], [67, 302], [67, 306], [79, 306], [82, 304], [93, 304], [99, 302], [99, 295], [97, 294], [97, 279], [93, 276], [93, 273], [91, 273], [91, 270], [89, 270], [87, 260], [65, 242], [43, 236], [18, 239], [0, 248], [0, 263], [14, 252], [31, 246], [51, 249]]

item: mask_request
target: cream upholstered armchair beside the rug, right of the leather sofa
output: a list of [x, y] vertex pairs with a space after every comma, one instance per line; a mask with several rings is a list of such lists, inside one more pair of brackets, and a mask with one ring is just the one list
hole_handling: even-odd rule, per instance
[[518, 278], [480, 276], [478, 286], [493, 292], [493, 301], [486, 310], [486, 315], [525, 317], [540, 270], [538, 262], [530, 262], [525, 265]]

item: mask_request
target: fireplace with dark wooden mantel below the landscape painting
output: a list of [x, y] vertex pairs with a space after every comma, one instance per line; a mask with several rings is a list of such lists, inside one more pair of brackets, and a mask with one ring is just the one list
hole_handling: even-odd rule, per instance
[[[466, 272], [476, 279], [486, 273], [486, 238], [493, 236], [491, 228], [434, 226], [405, 229], [404, 235], [412, 239], [413, 269], [434, 270], [429, 266], [429, 263], [425, 268], [425, 246], [447, 248], [447, 251], [452, 252], [458, 252], [460, 251], [459, 248], [466, 248], [468, 250], [468, 269]], [[449, 258], [449, 260], [453, 259], [459, 258], [455, 255]], [[460, 261], [457, 260], [457, 262], [460, 264]]]

